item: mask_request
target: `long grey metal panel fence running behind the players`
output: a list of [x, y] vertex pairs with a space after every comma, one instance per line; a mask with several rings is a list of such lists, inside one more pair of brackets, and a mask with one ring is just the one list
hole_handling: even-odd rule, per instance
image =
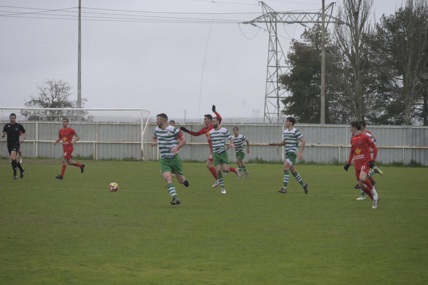
[[[22, 150], [24, 157], [62, 157], [62, 145], [54, 146], [53, 140], [58, 137], [60, 123], [23, 122], [27, 130], [27, 139]], [[186, 124], [187, 129], [199, 131], [202, 124]], [[253, 158], [263, 160], [283, 161], [281, 146], [269, 147], [267, 143], [281, 142], [285, 128], [279, 124], [222, 124], [231, 135], [233, 128], [239, 128], [239, 133], [248, 137], [250, 154], [245, 161]], [[140, 124], [108, 124], [80, 123], [71, 125], [80, 135], [80, 141], [74, 146], [74, 155], [94, 157], [95, 159], [123, 159], [133, 157], [141, 159], [141, 125]], [[158, 147], [150, 146], [156, 124], [149, 124], [144, 134], [145, 159], [158, 159]], [[349, 156], [351, 132], [348, 125], [315, 125], [297, 124], [295, 126], [303, 134], [306, 147], [303, 159], [317, 162], [340, 160], [345, 162]], [[377, 160], [382, 162], [398, 161], [409, 163], [416, 160], [428, 165], [428, 127], [423, 126], [367, 126], [380, 146]], [[37, 135], [36, 135], [37, 134]], [[184, 160], [206, 161], [209, 155], [206, 135], [198, 137], [184, 133], [187, 145], [180, 149]], [[6, 139], [0, 140], [0, 153], [9, 156]], [[106, 143], [108, 142], [108, 143]], [[229, 143], [229, 142], [228, 142]], [[235, 161], [234, 149], [229, 149], [229, 159]]]

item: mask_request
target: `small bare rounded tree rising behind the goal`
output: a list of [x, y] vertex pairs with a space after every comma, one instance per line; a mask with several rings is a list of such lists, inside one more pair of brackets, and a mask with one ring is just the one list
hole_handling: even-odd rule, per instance
[[[38, 94], [31, 95], [30, 100], [25, 102], [25, 107], [30, 108], [77, 108], [77, 102], [71, 101], [68, 97], [70, 93], [70, 85], [63, 80], [46, 80], [41, 85], [37, 84]], [[86, 101], [83, 99], [82, 101]], [[83, 106], [83, 102], [82, 102]], [[73, 110], [30, 110], [26, 113], [21, 113], [30, 121], [61, 121], [63, 117], [67, 117], [72, 121], [77, 121], [77, 111]], [[81, 120], [92, 120], [92, 116], [85, 116], [88, 112], [82, 111]]]

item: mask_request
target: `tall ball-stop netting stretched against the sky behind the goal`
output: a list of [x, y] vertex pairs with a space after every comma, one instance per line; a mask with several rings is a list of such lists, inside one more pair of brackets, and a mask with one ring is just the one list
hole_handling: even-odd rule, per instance
[[[81, 15], [83, 107], [142, 107], [151, 121], [166, 113], [200, 122], [215, 104], [223, 122], [263, 121], [269, 35], [263, 23], [245, 24], [261, 13], [82, 8]], [[75, 104], [77, 18], [78, 8], [0, 16], [1, 106], [46, 107], [26, 102], [58, 81]], [[277, 25], [285, 53], [296, 26]]]

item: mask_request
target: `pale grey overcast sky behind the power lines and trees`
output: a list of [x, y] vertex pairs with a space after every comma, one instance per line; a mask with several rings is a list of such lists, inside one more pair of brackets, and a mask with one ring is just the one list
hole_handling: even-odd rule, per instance
[[[83, 21], [82, 97], [88, 99], [85, 107], [143, 107], [152, 115], [165, 112], [172, 118], [179, 118], [178, 121], [187, 116], [189, 122], [200, 120], [210, 112], [211, 105], [216, 104], [223, 117], [231, 118], [233, 122], [263, 119], [268, 34], [258, 27], [238, 24], [258, 17], [262, 8], [255, 0], [214, 2], [82, 0], [82, 7], [92, 8], [84, 9], [85, 15], [100, 14], [115, 20], [160, 16], [163, 19], [207, 19], [205, 23], [196, 24]], [[266, 0], [265, 3], [277, 12], [317, 12], [322, 2]], [[329, 3], [326, 1], [326, 6]], [[77, 7], [78, 0], [0, 0], [0, 6], [0, 14], [3, 15], [40, 13]], [[376, 13], [377, 21], [383, 13], [392, 14], [400, 6], [401, 0], [375, 0], [372, 13]], [[333, 10], [333, 16], [336, 11]], [[162, 12], [165, 14], [158, 14]], [[24, 107], [30, 95], [37, 94], [37, 84], [45, 79], [65, 80], [70, 83], [71, 93], [76, 97], [76, 9], [53, 13], [58, 19], [34, 18], [30, 14], [0, 17], [0, 59], [4, 67], [1, 69], [0, 96], [1, 104], [6, 101], [8, 105], [3, 107]], [[64, 20], [64, 17], [72, 20]], [[215, 21], [229, 24], [213, 25]], [[284, 24], [278, 29], [278, 34], [284, 41], [286, 38], [299, 39], [303, 29], [300, 25]], [[282, 42], [282, 45], [287, 53], [287, 44]], [[243, 117], [249, 119], [239, 119]]]

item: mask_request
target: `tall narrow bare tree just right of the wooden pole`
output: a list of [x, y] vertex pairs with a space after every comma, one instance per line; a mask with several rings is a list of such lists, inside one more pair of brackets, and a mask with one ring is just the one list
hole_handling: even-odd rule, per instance
[[363, 120], [370, 100], [372, 80], [370, 76], [369, 23], [373, 0], [344, 0], [338, 18], [346, 25], [335, 25], [333, 37], [342, 65], [335, 70], [336, 84], [351, 103], [354, 117]]

